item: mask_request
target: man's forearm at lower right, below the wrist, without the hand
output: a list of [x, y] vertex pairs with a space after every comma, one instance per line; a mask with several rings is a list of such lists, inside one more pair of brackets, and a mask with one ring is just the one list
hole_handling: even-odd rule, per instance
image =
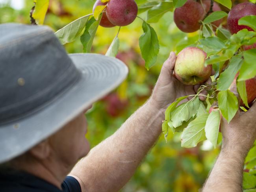
[[243, 165], [246, 156], [243, 153], [243, 150], [221, 150], [202, 191], [243, 191]]

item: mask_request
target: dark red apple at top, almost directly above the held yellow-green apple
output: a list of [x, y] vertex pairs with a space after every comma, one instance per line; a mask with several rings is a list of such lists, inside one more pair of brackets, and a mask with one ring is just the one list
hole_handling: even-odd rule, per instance
[[195, 0], [187, 0], [182, 6], [174, 11], [174, 22], [183, 32], [191, 33], [200, 29], [199, 21], [202, 19], [204, 9]]

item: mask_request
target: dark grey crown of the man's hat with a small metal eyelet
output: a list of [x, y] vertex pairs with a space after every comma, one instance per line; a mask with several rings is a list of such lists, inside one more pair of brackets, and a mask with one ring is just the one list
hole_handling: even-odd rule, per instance
[[46, 26], [0, 25], [0, 124], [39, 111], [80, 77]]

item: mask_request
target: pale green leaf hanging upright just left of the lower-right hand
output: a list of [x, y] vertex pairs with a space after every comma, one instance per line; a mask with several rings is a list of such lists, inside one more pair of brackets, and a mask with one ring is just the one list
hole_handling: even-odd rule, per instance
[[221, 123], [221, 114], [219, 113], [219, 110], [212, 111], [206, 120], [206, 125], [204, 130], [205, 130], [206, 138], [210, 140], [214, 148], [216, 148], [217, 146], [220, 123]]

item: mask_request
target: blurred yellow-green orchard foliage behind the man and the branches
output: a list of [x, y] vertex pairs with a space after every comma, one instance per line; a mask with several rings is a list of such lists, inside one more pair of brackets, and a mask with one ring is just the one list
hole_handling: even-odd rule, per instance
[[[42, 0], [37, 0], [37, 3], [40, 1], [42, 2]], [[73, 20], [92, 13], [94, 2], [94, 0], [50, 0], [44, 24], [50, 26], [54, 31], [58, 31]], [[135, 2], [139, 7], [138, 16], [148, 20], [150, 26], [156, 31], [160, 48], [159, 53], [156, 53], [157, 59], [156, 62], [153, 62], [154, 65], [152, 67], [151, 65], [147, 66], [148, 69], [150, 68], [147, 70], [139, 48], [139, 38], [143, 34], [141, 27], [143, 21], [140, 18], [136, 18], [132, 24], [121, 27], [118, 35], [120, 46], [117, 58], [124, 61], [128, 66], [128, 78], [115, 91], [95, 103], [93, 108], [87, 113], [89, 123], [87, 138], [91, 143], [91, 147], [114, 133], [148, 99], [160, 73], [161, 65], [168, 57], [170, 51], [175, 51], [178, 54], [186, 46], [195, 44], [198, 40], [214, 36], [206, 25], [202, 30], [193, 33], [184, 33], [176, 27], [173, 21], [174, 4], [182, 4], [186, 0], [135, 0]], [[244, 2], [244, 0], [232, 0], [232, 2], [230, 0], [218, 0], [216, 2], [229, 5], [231, 8], [231, 5], [234, 6]], [[251, 2], [255, 3], [255, 0]], [[148, 3], [148, 6], [145, 6], [145, 3]], [[20, 4], [22, 6], [19, 7]], [[19, 22], [30, 24], [29, 13], [33, 6], [33, 0], [0, 0], [0, 23]], [[142, 6], [148, 9], [140, 9]], [[229, 11], [224, 6], [222, 6], [222, 9], [227, 13]], [[148, 10], [151, 10], [149, 12], [151, 19], [149, 17], [150, 14], [148, 16]], [[155, 15], [158, 16], [155, 17]], [[42, 17], [39, 14], [40, 18]], [[225, 20], [226, 17], [223, 18], [223, 25], [225, 25]], [[39, 22], [43, 22], [42, 19]], [[93, 38], [90, 52], [106, 54], [118, 31], [119, 27], [103, 28], [99, 26]], [[225, 32], [223, 33], [224, 36], [227, 35]], [[229, 35], [227, 36], [230, 38]], [[221, 38], [225, 39], [226, 37]], [[211, 42], [205, 40], [200, 42], [204, 43], [202, 43], [202, 46], [209, 53], [211, 49], [207, 46], [207, 43], [211, 44]], [[218, 48], [223, 46], [223, 44], [218, 45], [220, 46]], [[84, 51], [79, 36], [64, 46], [69, 53]], [[210, 103], [207, 105], [207, 109], [209, 108]], [[181, 137], [182, 133], [176, 132], [173, 134], [169, 131], [166, 142], [164, 135], [161, 135], [154, 148], [148, 153], [145, 161], [141, 163], [135, 175], [121, 191], [198, 191], [213, 166], [221, 148], [221, 142], [217, 142], [216, 148], [213, 147], [209, 140], [199, 142], [194, 148], [182, 148]], [[221, 134], [219, 134], [219, 137], [221, 137]], [[255, 192], [255, 145], [250, 150], [246, 162], [243, 188], [247, 192]]]

